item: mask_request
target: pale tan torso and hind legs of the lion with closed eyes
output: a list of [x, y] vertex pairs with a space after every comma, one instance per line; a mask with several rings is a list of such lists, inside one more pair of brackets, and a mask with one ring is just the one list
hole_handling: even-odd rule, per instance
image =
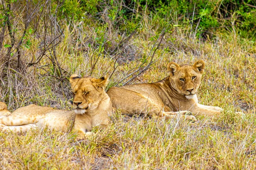
[[64, 111], [44, 106], [28, 105], [18, 108], [0, 119], [3, 131], [26, 132], [33, 127], [46, 127], [62, 132], [71, 128], [76, 117], [74, 111]]

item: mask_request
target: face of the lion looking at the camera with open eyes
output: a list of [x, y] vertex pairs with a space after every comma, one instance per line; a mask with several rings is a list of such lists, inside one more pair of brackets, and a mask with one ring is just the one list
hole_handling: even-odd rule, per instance
[[204, 61], [198, 60], [193, 65], [184, 66], [170, 62], [167, 65], [167, 70], [169, 71], [172, 87], [187, 99], [194, 98], [204, 72]]

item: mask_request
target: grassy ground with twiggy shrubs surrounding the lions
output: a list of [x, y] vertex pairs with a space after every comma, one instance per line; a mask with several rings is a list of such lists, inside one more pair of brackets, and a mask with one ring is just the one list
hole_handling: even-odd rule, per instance
[[[31, 11], [24, 15], [28, 2]], [[117, 111], [106, 130], [84, 140], [47, 128], [22, 135], [0, 132], [0, 169], [256, 169], [255, 33], [244, 36], [234, 24], [238, 17], [232, 15], [227, 29], [208, 34], [200, 25], [205, 15], [185, 22], [188, 14], [179, 15], [175, 8], [161, 17], [147, 4], [134, 3], [125, 20], [118, 12], [127, 4], [105, 2], [103, 8], [103, 1], [93, 1], [96, 6], [86, 4], [90, 14], [68, 20], [66, 3], [60, 5], [66, 5], [66, 13], [62, 8], [53, 17], [58, 1], [44, 2], [45, 10], [31, 2], [1, 1], [6, 7], [1, 14], [9, 19], [2, 20], [0, 38], [0, 101], [10, 111], [32, 103], [72, 109], [67, 77], [73, 73], [108, 75], [110, 88], [156, 82], [168, 76], [168, 62], [198, 59], [206, 63], [199, 102], [224, 111], [196, 122]]]

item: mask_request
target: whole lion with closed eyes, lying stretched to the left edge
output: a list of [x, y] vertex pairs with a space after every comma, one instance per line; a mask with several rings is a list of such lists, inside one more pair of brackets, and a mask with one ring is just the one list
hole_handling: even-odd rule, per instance
[[49, 107], [28, 105], [10, 113], [6, 104], [0, 102], [0, 127], [3, 131], [26, 132], [31, 128], [55, 129], [61, 132], [73, 130], [78, 137], [91, 134], [93, 127], [105, 128], [112, 114], [112, 105], [105, 92], [108, 78], [70, 77], [73, 92], [73, 109], [58, 110]]

